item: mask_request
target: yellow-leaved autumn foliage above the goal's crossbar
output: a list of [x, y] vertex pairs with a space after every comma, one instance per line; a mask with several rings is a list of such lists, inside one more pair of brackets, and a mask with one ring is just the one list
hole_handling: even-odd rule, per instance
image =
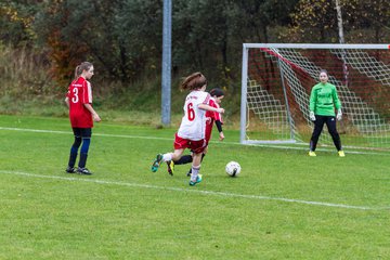
[[[389, 1], [343, 0], [340, 3], [346, 43], [388, 42], [390, 34]], [[290, 16], [292, 24], [289, 31], [282, 37], [284, 41], [339, 42], [334, 1], [300, 0]], [[375, 32], [372, 34], [373, 31]], [[374, 38], [368, 35], [374, 35]]]

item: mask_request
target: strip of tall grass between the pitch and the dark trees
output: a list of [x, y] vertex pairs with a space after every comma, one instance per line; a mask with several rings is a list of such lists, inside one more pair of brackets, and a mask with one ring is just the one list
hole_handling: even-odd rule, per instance
[[[64, 96], [69, 81], [55, 83], [50, 78], [50, 63], [41, 50], [15, 50], [0, 46], [0, 114], [29, 114], [44, 116], [67, 116]], [[100, 114], [107, 113], [112, 119], [136, 122], [136, 118], [123, 117], [121, 112], [156, 114], [161, 106], [160, 77], [144, 76], [133, 83], [123, 83], [104, 78], [95, 66], [93, 105]], [[181, 92], [181, 77], [172, 79], [171, 112], [173, 123], [180, 121], [183, 100], [187, 92]], [[210, 82], [208, 90], [220, 87], [225, 90], [225, 118], [239, 114], [239, 86], [226, 88]], [[159, 115], [159, 113], [158, 113]], [[158, 115], [156, 115], [158, 120]], [[178, 117], [179, 115], [179, 117]], [[144, 118], [139, 118], [144, 123]], [[156, 120], [155, 120], [156, 121]], [[227, 121], [227, 120], [226, 120]], [[151, 120], [148, 120], [151, 122]]]

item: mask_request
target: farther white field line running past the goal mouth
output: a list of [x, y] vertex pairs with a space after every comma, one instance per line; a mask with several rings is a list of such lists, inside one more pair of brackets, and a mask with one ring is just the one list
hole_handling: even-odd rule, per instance
[[[72, 131], [56, 131], [56, 130], [40, 130], [40, 129], [28, 129], [28, 128], [6, 128], [0, 127], [0, 130], [5, 131], [22, 131], [22, 132], [37, 132], [37, 133], [57, 133], [57, 134], [73, 134]], [[144, 139], [144, 140], [162, 140], [162, 141], [173, 141], [172, 138], [157, 138], [157, 136], [144, 136], [144, 135], [128, 135], [128, 134], [108, 134], [108, 133], [93, 133], [94, 136], [105, 136], [105, 138], [123, 138], [123, 139]], [[219, 144], [230, 144], [230, 145], [243, 145], [239, 142], [219, 142], [219, 141], [211, 141], [211, 143], [219, 143]], [[298, 150], [298, 151], [308, 151], [308, 147], [291, 147], [291, 146], [284, 146], [284, 145], [270, 145], [270, 144], [248, 144], [249, 146], [256, 147], [269, 147], [269, 148], [282, 148], [282, 150]], [[316, 151], [322, 152], [329, 152], [335, 153], [334, 148], [326, 150], [326, 148], [317, 148]], [[390, 154], [387, 153], [376, 153], [376, 152], [361, 152], [361, 151], [347, 151], [346, 154], [366, 154], [366, 155], [386, 155], [389, 156]]]

